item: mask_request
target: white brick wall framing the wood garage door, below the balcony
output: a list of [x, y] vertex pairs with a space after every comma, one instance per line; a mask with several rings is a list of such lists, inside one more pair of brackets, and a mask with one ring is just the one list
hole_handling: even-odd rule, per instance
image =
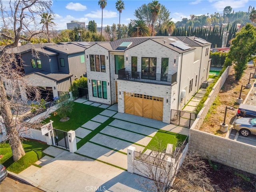
[[[175, 84], [174, 86], [166, 86], [160, 84], [118, 80], [118, 92], [121, 92], [120, 96], [118, 93], [118, 112], [124, 113], [124, 92], [162, 97], [164, 98], [162, 121], [165, 123], [170, 123], [170, 109], [176, 107], [176, 89], [177, 84]], [[166, 99], [168, 99], [168, 104], [166, 103]]]

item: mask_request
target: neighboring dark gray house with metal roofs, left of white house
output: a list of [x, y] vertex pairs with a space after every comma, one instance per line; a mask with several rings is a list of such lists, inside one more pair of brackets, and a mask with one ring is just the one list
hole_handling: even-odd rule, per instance
[[[23, 79], [30, 86], [41, 88], [42, 98], [53, 99], [60, 92], [68, 92], [72, 81], [86, 75], [85, 48], [57, 44], [27, 44], [12, 49], [23, 60]], [[4, 80], [7, 94], [11, 94], [11, 80]], [[21, 90], [27, 100], [26, 90]]]

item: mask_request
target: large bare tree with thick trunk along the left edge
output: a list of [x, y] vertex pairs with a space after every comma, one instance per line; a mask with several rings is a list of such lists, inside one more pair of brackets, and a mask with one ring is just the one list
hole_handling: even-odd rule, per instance
[[[30, 90], [33, 90], [36, 96], [39, 95], [39, 91], [28, 86], [25, 83], [25, 80], [20, 81], [23, 75], [20, 66], [22, 66], [23, 61], [19, 55], [14, 54], [12, 48], [16, 48], [20, 40], [29, 41], [33, 36], [41, 33], [33, 33], [30, 26], [38, 25], [36, 16], [42, 14], [43, 11], [51, 13], [51, 1], [9, 0], [7, 2], [1, 0], [0, 5], [0, 20], [4, 28], [4, 30], [0, 32], [0, 36], [4, 36], [6, 39], [13, 41], [10, 46], [2, 48], [0, 54], [0, 112], [2, 114], [8, 141], [12, 149], [13, 160], [17, 161], [25, 154], [17, 130], [18, 126], [23, 126], [23, 123], [25, 123], [18, 120], [18, 114], [20, 113], [20, 108], [22, 106], [19, 97], [20, 95], [18, 94], [20, 93], [19, 87], [22, 86], [22, 88], [27, 88], [28, 94]], [[10, 28], [12, 28], [13, 33], [10, 33]], [[21, 35], [21, 32], [24, 30], [28, 31], [26, 37]], [[11, 81], [13, 85], [12, 93], [8, 97], [3, 84], [4, 80]], [[24, 111], [26, 109], [28, 108], [24, 107]]]

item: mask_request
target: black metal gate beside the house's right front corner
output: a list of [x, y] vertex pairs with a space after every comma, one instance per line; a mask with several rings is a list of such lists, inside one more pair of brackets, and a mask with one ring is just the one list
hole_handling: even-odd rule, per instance
[[190, 128], [194, 121], [196, 120], [196, 113], [180, 111], [180, 110], [171, 110], [171, 124], [184, 126]]

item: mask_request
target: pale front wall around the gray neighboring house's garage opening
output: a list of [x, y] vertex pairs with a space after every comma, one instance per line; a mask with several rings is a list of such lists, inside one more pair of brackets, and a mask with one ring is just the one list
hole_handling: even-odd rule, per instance
[[[45, 78], [37, 74], [30, 74], [30, 75], [24, 76], [23, 80], [25, 80], [26, 83], [30, 86], [52, 87], [53, 97], [58, 97], [58, 88], [54, 80], [50, 80], [48, 78]], [[20, 87], [20, 90], [21, 90], [22, 100], [26, 101], [27, 100], [26, 92], [24, 92], [24, 89], [22, 87]]]

